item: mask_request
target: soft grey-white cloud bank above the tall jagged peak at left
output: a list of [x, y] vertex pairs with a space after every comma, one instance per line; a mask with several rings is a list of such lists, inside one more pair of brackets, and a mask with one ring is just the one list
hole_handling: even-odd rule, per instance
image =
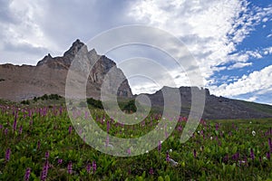
[[[128, 24], [129, 18], [123, 14], [127, 4], [110, 0], [0, 0], [0, 63], [35, 64], [48, 52], [61, 55], [76, 39], [86, 43], [102, 31]], [[8, 50], [10, 47], [16, 50]]]

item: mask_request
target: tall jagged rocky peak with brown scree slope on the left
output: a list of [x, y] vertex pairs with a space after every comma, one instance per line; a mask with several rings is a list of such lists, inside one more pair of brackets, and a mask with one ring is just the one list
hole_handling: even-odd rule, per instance
[[[97, 54], [94, 49], [88, 51], [84, 43], [76, 40], [63, 56], [52, 57], [49, 53], [36, 66], [0, 65], [0, 80], [5, 80], [0, 81], [0, 99], [33, 99], [45, 93], [64, 96], [67, 72], [79, 52], [87, 57], [89, 65], [93, 65], [86, 86], [87, 97], [100, 99], [103, 79], [110, 70], [114, 72], [114, 76], [111, 77], [112, 83], [124, 80], [117, 96], [132, 97], [130, 85], [116, 63], [104, 55]], [[98, 61], [94, 63], [96, 60]]]

